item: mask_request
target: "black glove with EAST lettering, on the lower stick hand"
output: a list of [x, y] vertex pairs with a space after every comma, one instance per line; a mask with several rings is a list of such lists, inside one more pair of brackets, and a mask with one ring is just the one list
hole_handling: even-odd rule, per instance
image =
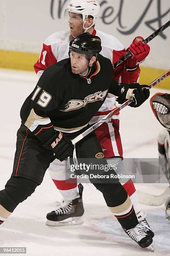
[[62, 162], [68, 156], [72, 155], [74, 146], [70, 139], [64, 136], [61, 132], [55, 132], [56, 134], [45, 143], [45, 147], [52, 150], [56, 158]]

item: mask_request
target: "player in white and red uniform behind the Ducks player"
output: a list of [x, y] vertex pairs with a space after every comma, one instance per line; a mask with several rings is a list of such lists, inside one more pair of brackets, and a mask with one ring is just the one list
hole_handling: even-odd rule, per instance
[[[68, 18], [70, 29], [67, 31], [53, 33], [45, 40], [40, 58], [34, 65], [35, 72], [39, 77], [48, 66], [67, 58], [70, 40], [80, 33], [86, 31], [101, 38], [101, 54], [110, 59], [112, 64], [126, 54], [124, 46], [119, 40], [117, 40], [117, 38], [102, 31], [95, 30], [94, 26], [99, 12], [100, 5], [96, 0], [72, 0], [67, 5], [65, 18]], [[142, 38], [138, 37], [138, 39], [141, 40]], [[114, 70], [113, 75], [117, 82], [137, 82], [140, 74], [139, 64], [145, 60], [150, 51], [150, 47], [147, 44], [144, 44], [142, 41], [136, 41], [135, 39], [133, 40], [133, 43], [130, 45], [129, 49], [134, 56]], [[115, 107], [115, 96], [109, 94], [100, 110], [98, 110], [98, 112], [92, 118], [91, 123], [97, 122], [100, 120], [100, 118], [103, 118], [106, 114], [110, 113]], [[103, 148], [105, 157], [117, 158], [117, 161], [120, 161], [123, 156], [122, 143], [119, 133], [119, 115], [117, 114], [106, 123], [103, 123], [95, 130], [95, 133]], [[74, 209], [76, 209], [75, 205], [77, 205], [77, 203], [82, 204], [82, 192], [80, 192], [80, 194], [77, 192], [76, 179], [72, 179], [71, 182], [69, 180], [65, 180], [66, 175], [64, 162], [61, 163], [58, 161], [57, 164], [56, 162], [53, 162], [50, 164], [49, 171], [55, 186], [57, 189], [59, 189], [63, 197], [63, 200], [62, 204], [57, 210], [47, 214], [47, 219], [50, 216], [50, 220], [51, 218], [54, 220], [54, 225], [62, 225], [62, 223], [57, 222], [58, 215], [64, 214], [65, 218], [68, 218], [68, 216], [71, 217], [72, 215], [70, 215], [70, 211], [74, 212]], [[128, 180], [128, 182], [123, 184], [123, 187], [128, 192], [128, 195], [133, 202], [138, 219], [143, 223], [143, 228], [148, 231], [151, 236], [153, 236], [153, 232], [150, 230], [150, 227], [145, 220], [145, 213], [140, 211], [138, 208], [137, 192], [132, 180]], [[80, 202], [78, 199], [80, 199]], [[80, 216], [83, 214], [83, 212], [84, 210], [81, 210], [79, 218], [76, 217], [78, 223], [82, 223]], [[69, 218], [69, 220], [70, 219], [71, 218]]]

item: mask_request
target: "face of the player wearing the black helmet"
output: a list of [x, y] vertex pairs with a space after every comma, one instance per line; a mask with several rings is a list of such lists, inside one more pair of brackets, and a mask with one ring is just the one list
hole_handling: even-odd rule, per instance
[[88, 73], [88, 61], [85, 54], [79, 54], [75, 51], [70, 52], [71, 69], [73, 74], [86, 76]]

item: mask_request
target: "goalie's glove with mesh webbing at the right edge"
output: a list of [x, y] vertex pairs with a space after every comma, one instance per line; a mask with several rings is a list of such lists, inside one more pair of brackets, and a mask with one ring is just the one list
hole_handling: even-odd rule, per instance
[[170, 94], [154, 94], [150, 99], [150, 105], [158, 121], [170, 131]]

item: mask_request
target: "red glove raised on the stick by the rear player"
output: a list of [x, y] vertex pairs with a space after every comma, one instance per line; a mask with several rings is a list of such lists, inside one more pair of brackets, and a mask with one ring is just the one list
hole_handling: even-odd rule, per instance
[[150, 52], [150, 46], [148, 44], [144, 44], [143, 40], [143, 37], [137, 36], [129, 46], [129, 50], [133, 56], [126, 61], [126, 67], [135, 67], [142, 63], [148, 56]]

